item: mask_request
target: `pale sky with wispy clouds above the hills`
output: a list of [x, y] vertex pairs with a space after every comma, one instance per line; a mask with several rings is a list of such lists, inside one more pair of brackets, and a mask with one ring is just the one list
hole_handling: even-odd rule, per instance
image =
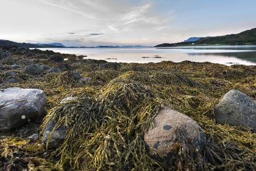
[[0, 0], [0, 39], [65, 46], [183, 42], [256, 27], [255, 0]]

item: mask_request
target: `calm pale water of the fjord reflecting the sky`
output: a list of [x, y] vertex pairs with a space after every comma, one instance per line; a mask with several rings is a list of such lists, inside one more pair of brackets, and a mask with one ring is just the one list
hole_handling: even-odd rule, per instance
[[212, 62], [230, 65], [256, 65], [255, 46], [196, 46], [196, 47], [146, 47], [146, 48], [40, 48], [64, 54], [87, 55], [88, 59], [108, 62], [148, 63], [171, 60], [181, 62]]

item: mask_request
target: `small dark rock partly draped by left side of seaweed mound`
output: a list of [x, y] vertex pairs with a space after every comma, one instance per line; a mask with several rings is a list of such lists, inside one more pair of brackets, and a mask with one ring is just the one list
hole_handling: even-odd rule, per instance
[[[60, 145], [62, 145], [66, 138], [67, 127], [59, 127], [52, 132], [54, 127], [55, 124], [50, 122], [43, 132], [42, 143], [44, 144], [44, 148], [47, 150], [58, 148]], [[52, 135], [49, 137], [51, 132]], [[47, 143], [48, 145], [46, 146]]]

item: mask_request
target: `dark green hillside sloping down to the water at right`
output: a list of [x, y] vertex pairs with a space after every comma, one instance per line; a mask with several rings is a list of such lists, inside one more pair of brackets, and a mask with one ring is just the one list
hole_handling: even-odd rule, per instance
[[204, 45], [207, 45], [207, 44], [227, 44], [227, 45], [256, 44], [256, 28], [243, 31], [238, 34], [201, 38], [193, 42], [163, 43], [163, 44], [158, 44], [155, 47], [186, 46], [191, 43], [204, 44]]

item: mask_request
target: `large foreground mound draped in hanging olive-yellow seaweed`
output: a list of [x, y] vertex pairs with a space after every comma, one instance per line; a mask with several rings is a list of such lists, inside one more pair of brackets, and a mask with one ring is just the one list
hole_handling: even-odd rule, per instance
[[145, 84], [113, 79], [95, 97], [52, 109], [42, 131], [51, 122], [56, 123], [53, 130], [67, 128], [62, 146], [52, 153], [61, 152], [60, 170], [156, 170], [159, 165], [148, 156], [143, 134], [162, 103]]

